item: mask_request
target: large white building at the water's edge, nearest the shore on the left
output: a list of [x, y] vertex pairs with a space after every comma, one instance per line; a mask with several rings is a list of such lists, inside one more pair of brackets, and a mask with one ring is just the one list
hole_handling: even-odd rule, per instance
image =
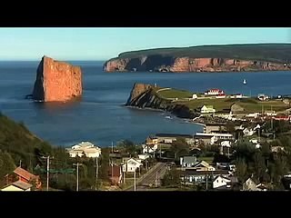
[[95, 146], [90, 142], [82, 142], [80, 144], [75, 144], [72, 148], [66, 149], [67, 153], [70, 157], [82, 157], [85, 155], [86, 157], [96, 158], [101, 155], [101, 148]]

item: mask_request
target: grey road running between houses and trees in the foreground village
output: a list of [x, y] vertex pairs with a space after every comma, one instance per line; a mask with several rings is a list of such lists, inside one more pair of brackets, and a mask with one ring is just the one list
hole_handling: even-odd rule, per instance
[[[160, 186], [161, 179], [164, 177], [165, 173], [166, 163], [156, 163], [155, 169], [146, 173], [143, 178], [137, 181], [136, 191], [146, 191], [146, 189], [149, 188], [149, 184]], [[131, 187], [128, 191], [135, 191], [135, 187]]]

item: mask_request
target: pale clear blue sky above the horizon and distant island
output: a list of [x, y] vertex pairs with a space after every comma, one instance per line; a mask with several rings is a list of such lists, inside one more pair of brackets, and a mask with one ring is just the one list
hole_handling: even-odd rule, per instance
[[156, 47], [256, 43], [291, 43], [291, 28], [0, 28], [0, 61], [101, 61]]

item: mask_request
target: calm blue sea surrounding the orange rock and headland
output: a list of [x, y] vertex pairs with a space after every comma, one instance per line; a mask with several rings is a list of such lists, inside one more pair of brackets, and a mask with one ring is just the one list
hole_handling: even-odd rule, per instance
[[[195, 134], [202, 127], [166, 114], [126, 108], [135, 83], [158, 84], [204, 92], [221, 88], [226, 93], [291, 94], [291, 72], [268, 73], [105, 73], [103, 62], [70, 62], [82, 67], [84, 94], [75, 104], [37, 104], [25, 100], [35, 83], [37, 62], [0, 62], [0, 110], [24, 122], [51, 144], [91, 141], [100, 146], [123, 139], [136, 143], [156, 133]], [[243, 84], [246, 79], [247, 84]]]

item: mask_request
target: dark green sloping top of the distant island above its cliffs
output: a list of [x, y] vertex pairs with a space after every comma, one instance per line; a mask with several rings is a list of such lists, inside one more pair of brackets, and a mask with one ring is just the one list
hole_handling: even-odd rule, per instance
[[119, 58], [133, 58], [148, 55], [174, 57], [221, 57], [243, 60], [291, 62], [291, 44], [246, 44], [246, 45], [201, 45], [191, 47], [156, 48], [119, 54]]

